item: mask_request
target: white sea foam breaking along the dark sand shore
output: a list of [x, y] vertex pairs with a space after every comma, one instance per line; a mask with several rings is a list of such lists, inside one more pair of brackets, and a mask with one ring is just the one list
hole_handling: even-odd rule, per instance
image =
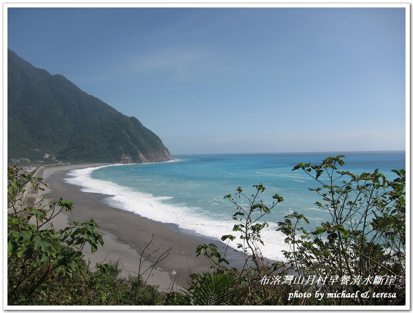
[[[230, 218], [228, 220], [222, 217], [214, 218], [203, 214], [203, 210], [200, 207], [167, 203], [167, 200], [172, 197], [156, 197], [150, 193], [139, 192], [113, 182], [91, 177], [93, 170], [116, 165], [123, 164], [75, 169], [68, 172], [70, 177], [65, 178], [65, 181], [81, 186], [83, 192], [108, 195], [105, 202], [109, 206], [130, 211], [157, 222], [173, 223], [184, 230], [194, 231], [199, 235], [217, 240], [220, 240], [222, 235], [231, 234], [237, 237], [241, 235], [240, 233], [232, 232], [235, 221]], [[285, 235], [277, 232], [277, 228], [278, 226], [275, 223], [269, 223], [269, 227], [261, 231], [261, 239], [264, 241], [265, 246], [261, 245], [260, 249], [264, 257], [272, 260], [283, 260], [282, 250], [288, 250], [289, 246], [284, 243]], [[205, 243], [208, 243], [207, 238]], [[238, 243], [243, 242], [240, 239], [234, 240], [230, 241], [229, 245], [236, 249]]]

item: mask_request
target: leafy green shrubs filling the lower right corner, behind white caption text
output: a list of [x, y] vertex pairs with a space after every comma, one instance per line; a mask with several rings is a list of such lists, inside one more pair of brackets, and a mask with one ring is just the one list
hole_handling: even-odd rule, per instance
[[[283, 201], [276, 194], [271, 204], [259, 199], [265, 191], [262, 184], [254, 185], [251, 197], [238, 187], [234, 196], [225, 196], [236, 207], [232, 231], [239, 233], [242, 243], [238, 248], [245, 252], [245, 264], [240, 270], [228, 269], [225, 254], [221, 256], [213, 244], [198, 246], [197, 255], [205, 255], [212, 264], [214, 275], [237, 277], [228, 280], [230, 290], [243, 290], [242, 303], [247, 305], [403, 305], [406, 297], [406, 173], [393, 170], [398, 176], [389, 181], [377, 169], [373, 173], [355, 175], [339, 171], [344, 156], [327, 157], [321, 164], [299, 163], [293, 170], [304, 170], [319, 183], [316, 192], [321, 200], [316, 206], [325, 210], [330, 219], [310, 231], [310, 222], [298, 212], [285, 216], [278, 231], [286, 235], [290, 250], [284, 251], [285, 261], [271, 266], [262, 257], [259, 244], [264, 244], [260, 232], [267, 226], [260, 222], [273, 207]], [[243, 203], [242, 200], [244, 200]], [[241, 202], [240, 202], [241, 201]], [[235, 240], [234, 235], [224, 235], [224, 240]], [[226, 250], [225, 250], [226, 252]], [[224, 263], [226, 265], [224, 265]], [[308, 278], [337, 277], [325, 284], [259, 284], [264, 277], [286, 275]], [[372, 284], [378, 279], [394, 278], [393, 284]], [[192, 303], [207, 303], [212, 286], [212, 275], [197, 275], [190, 280], [194, 292], [188, 293]], [[369, 279], [370, 284], [341, 284], [342, 277]], [[269, 279], [269, 278], [268, 278]], [[318, 301], [310, 298], [289, 297], [299, 293], [370, 292], [396, 294], [397, 298], [331, 298]], [[290, 299], [289, 299], [290, 298]]]

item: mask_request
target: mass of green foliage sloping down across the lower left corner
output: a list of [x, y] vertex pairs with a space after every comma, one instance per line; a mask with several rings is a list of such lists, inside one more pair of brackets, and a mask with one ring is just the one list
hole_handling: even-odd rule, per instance
[[[82, 249], [92, 252], [103, 245], [94, 220], [74, 222], [64, 229], [52, 220], [67, 200], [44, 204], [24, 197], [29, 189], [43, 189], [41, 178], [7, 169], [7, 304], [8, 305], [177, 305], [188, 304], [184, 295], [157, 291], [140, 277], [117, 279], [118, 262], [91, 269]], [[163, 255], [163, 254], [162, 254]]]

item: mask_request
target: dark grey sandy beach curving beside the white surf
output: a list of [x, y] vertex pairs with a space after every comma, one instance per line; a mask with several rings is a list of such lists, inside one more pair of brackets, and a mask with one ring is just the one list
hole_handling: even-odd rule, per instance
[[[143, 264], [140, 272], [150, 268], [162, 252], [169, 251], [169, 255], [155, 268], [144, 275], [148, 283], [158, 285], [159, 290], [176, 290], [179, 286], [187, 286], [187, 277], [190, 272], [205, 272], [210, 264], [205, 257], [196, 257], [195, 249], [201, 243], [210, 241], [197, 240], [194, 237], [183, 235], [175, 225], [158, 223], [137, 214], [118, 208], [109, 207], [103, 202], [107, 195], [82, 192], [81, 187], [64, 181], [68, 171], [77, 168], [93, 167], [102, 164], [64, 165], [44, 167], [38, 171], [37, 176], [42, 176], [48, 188], [42, 194], [45, 199], [64, 200], [74, 202], [71, 213], [61, 213], [52, 220], [56, 228], [64, 228], [73, 221], [89, 221], [94, 219], [103, 235], [104, 246], [99, 246], [98, 251], [91, 254], [90, 249], [84, 250], [85, 260], [89, 260], [91, 267], [96, 263], [119, 261], [122, 272], [119, 276], [135, 276], [139, 271], [139, 256], [149, 241], [153, 240], [145, 250], [144, 256], [157, 250], [147, 262]], [[202, 239], [202, 238], [200, 238]], [[175, 284], [173, 284], [175, 282]]]

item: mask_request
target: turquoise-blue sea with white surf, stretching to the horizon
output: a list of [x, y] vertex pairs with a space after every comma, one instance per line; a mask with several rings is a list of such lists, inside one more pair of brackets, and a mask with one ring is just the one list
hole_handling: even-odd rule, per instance
[[285, 235], [276, 229], [285, 215], [303, 213], [314, 227], [329, 220], [329, 213], [314, 205], [322, 199], [308, 190], [318, 187], [318, 183], [302, 170], [293, 171], [293, 167], [300, 162], [320, 163], [326, 157], [341, 154], [346, 157], [340, 169], [356, 174], [379, 168], [394, 179], [391, 169], [406, 168], [405, 152], [182, 155], [174, 156], [177, 161], [171, 162], [73, 170], [67, 181], [83, 186], [85, 192], [110, 195], [105, 201], [113, 207], [176, 224], [184, 233], [196, 232], [218, 240], [231, 234], [235, 224], [235, 207], [224, 196], [234, 194], [238, 186], [251, 195], [252, 186], [262, 183], [266, 187], [261, 194], [264, 202], [271, 203], [276, 193], [285, 200], [265, 216], [269, 228], [262, 231], [264, 256], [282, 259], [281, 250], [287, 248]]

